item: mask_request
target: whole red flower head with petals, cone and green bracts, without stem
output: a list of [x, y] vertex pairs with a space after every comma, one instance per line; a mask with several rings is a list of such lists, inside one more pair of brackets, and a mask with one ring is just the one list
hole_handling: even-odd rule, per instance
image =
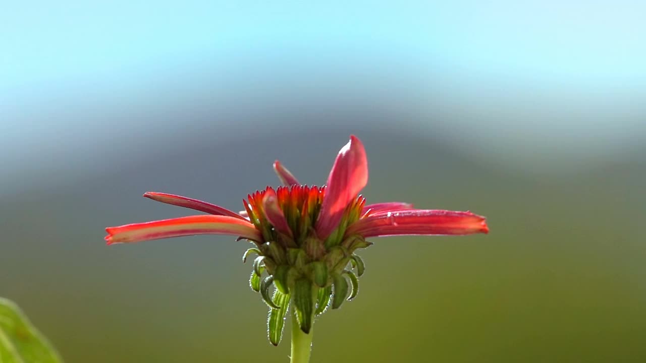
[[[366, 238], [488, 233], [485, 218], [470, 212], [413, 209], [401, 202], [366, 205], [359, 192], [368, 183], [368, 159], [355, 136], [339, 151], [325, 186], [301, 185], [279, 161], [273, 166], [284, 186], [247, 195], [240, 213], [192, 198], [147, 192], [146, 198], [208, 214], [109, 227], [105, 240], [118, 244], [231, 234], [253, 242], [255, 247], [244, 253], [243, 261], [258, 255], [249, 284], [270, 307], [269, 340], [278, 344], [289, 304], [307, 333], [313, 316], [326, 311], [330, 302], [335, 309], [357, 295], [357, 276], [364, 273], [364, 263], [355, 252], [371, 245]], [[267, 276], [262, 277], [264, 273]]]

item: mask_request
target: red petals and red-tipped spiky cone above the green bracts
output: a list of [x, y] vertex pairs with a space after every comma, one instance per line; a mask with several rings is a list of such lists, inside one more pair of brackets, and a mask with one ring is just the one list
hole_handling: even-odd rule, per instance
[[[200, 200], [147, 192], [143, 194], [146, 198], [213, 215], [109, 227], [105, 240], [107, 244], [117, 244], [194, 234], [232, 234], [262, 244], [273, 238], [271, 233], [297, 240], [310, 233], [320, 240], [333, 233], [338, 240], [353, 234], [376, 237], [488, 233], [485, 218], [470, 212], [412, 209], [412, 205], [399, 202], [363, 206], [364, 198], [358, 194], [368, 183], [368, 160], [363, 144], [355, 136], [339, 151], [326, 187], [299, 185], [279, 161], [274, 163], [274, 169], [287, 187], [267, 187], [250, 195], [248, 202], [244, 201], [248, 218], [245, 213]], [[357, 215], [351, 218], [351, 214]]]

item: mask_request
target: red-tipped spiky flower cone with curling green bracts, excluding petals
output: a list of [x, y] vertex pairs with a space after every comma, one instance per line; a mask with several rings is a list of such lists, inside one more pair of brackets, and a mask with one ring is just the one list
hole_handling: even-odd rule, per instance
[[[272, 339], [271, 316], [286, 309], [290, 301], [301, 329], [307, 333], [313, 316], [323, 313], [330, 301], [333, 308], [339, 307], [348, 297], [350, 287], [348, 300], [357, 295], [357, 275], [362, 275], [364, 268], [362, 260], [354, 252], [368, 247], [370, 242], [360, 235], [346, 235], [346, 230], [359, 220], [366, 200], [358, 196], [349, 203], [337, 229], [322, 240], [318, 238], [314, 226], [325, 191], [326, 187], [307, 185], [278, 187], [275, 191], [267, 187], [264, 191], [249, 194], [244, 201], [249, 220], [264, 239], [256, 242], [257, 248], [247, 250], [245, 258], [249, 253], [258, 254], [250, 285], [262, 294], [272, 308], [269, 338], [273, 344], [278, 344], [280, 334], [277, 340]], [[270, 222], [272, 218], [267, 216], [269, 211], [265, 210], [264, 200], [267, 193], [274, 192], [278, 208], [287, 223], [287, 231], [273, 225]], [[357, 269], [357, 275], [346, 269], [348, 264]], [[269, 276], [263, 279], [261, 276], [265, 271]], [[276, 286], [273, 297], [269, 294], [271, 285]]]

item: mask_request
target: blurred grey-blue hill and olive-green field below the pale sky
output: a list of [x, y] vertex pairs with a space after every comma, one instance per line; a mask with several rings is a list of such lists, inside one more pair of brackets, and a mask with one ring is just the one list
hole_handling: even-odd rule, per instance
[[[643, 149], [583, 171], [529, 159], [525, 172], [461, 145], [354, 131], [369, 202], [468, 209], [490, 234], [373, 239], [359, 296], [315, 324], [312, 362], [646, 361]], [[267, 308], [247, 285], [247, 244], [107, 247], [103, 227], [191, 213], [141, 198], [149, 190], [238, 210], [277, 184], [274, 158], [323, 183], [348, 133], [182, 140], [182, 152], [31, 180], [3, 195], [0, 293], [67, 362], [287, 362], [289, 327], [271, 346]]]

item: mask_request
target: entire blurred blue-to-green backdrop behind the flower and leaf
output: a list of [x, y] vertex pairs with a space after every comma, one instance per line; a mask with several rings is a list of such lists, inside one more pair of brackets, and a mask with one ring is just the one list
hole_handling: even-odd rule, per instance
[[349, 134], [369, 202], [491, 233], [373, 240], [312, 362], [646, 361], [643, 3], [2, 7], [0, 295], [67, 362], [287, 362], [245, 242], [104, 227], [324, 183]]

